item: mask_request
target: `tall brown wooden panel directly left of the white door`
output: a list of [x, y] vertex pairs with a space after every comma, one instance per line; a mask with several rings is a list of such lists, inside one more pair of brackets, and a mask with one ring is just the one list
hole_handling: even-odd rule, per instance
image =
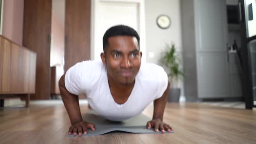
[[91, 1], [66, 0], [65, 72], [77, 62], [90, 60]]

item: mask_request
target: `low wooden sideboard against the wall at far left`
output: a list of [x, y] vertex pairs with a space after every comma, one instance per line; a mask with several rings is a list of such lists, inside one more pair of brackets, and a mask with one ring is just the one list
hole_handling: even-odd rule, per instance
[[35, 81], [36, 53], [0, 36], [0, 99], [29, 97]]

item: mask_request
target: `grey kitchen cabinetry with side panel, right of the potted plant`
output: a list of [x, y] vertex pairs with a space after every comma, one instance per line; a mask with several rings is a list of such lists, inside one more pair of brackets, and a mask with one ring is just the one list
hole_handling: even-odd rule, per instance
[[181, 20], [186, 100], [240, 98], [228, 62], [225, 0], [181, 0]]

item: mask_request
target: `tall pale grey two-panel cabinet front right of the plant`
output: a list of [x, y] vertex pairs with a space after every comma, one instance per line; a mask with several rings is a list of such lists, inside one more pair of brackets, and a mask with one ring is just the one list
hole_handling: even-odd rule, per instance
[[225, 0], [195, 0], [198, 98], [230, 97]]

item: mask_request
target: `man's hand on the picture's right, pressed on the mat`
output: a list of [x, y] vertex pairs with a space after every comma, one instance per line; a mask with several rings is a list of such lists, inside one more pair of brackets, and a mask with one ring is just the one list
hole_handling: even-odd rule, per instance
[[171, 132], [173, 128], [169, 124], [164, 123], [160, 118], [153, 119], [147, 122], [147, 128], [154, 128], [154, 131], [158, 132], [159, 130], [164, 133], [165, 131]]

